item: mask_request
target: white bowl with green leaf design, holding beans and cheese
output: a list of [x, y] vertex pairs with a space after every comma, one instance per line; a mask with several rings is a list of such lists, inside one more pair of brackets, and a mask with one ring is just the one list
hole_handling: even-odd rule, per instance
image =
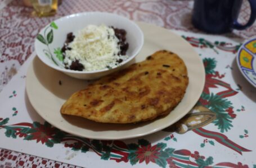
[[[69, 32], [76, 34], [87, 25], [114, 26], [127, 31], [128, 59], [113, 69], [101, 69], [97, 71], [74, 71], [65, 69], [61, 60], [61, 48]], [[61, 71], [71, 77], [93, 80], [107, 74], [118, 71], [132, 64], [132, 60], [140, 52], [144, 43], [143, 32], [133, 21], [128, 18], [104, 12], [77, 13], [59, 18], [44, 27], [35, 39], [35, 52], [47, 66]]]

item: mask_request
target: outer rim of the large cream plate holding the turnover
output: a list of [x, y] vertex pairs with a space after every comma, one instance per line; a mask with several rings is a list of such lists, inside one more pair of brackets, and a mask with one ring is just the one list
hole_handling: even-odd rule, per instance
[[[147, 24], [147, 23], [144, 23], [144, 22], [136, 22], [139, 26], [141, 26], [141, 25], [147, 25], [147, 26], [155, 26], [155, 25], [152, 25], [152, 24]], [[192, 109], [193, 108], [193, 106], [196, 104], [196, 102], [199, 100], [199, 98], [200, 98], [200, 96], [201, 96], [201, 93], [203, 92], [203, 89], [204, 89], [204, 85], [205, 85], [205, 69], [204, 69], [204, 66], [203, 66], [203, 61], [202, 61], [202, 59], [200, 58], [200, 56], [199, 56], [199, 54], [196, 52], [196, 50], [194, 49], [194, 48], [192, 48], [192, 46], [185, 40], [185, 39], [183, 39], [181, 36], [179, 36], [178, 34], [176, 34], [175, 32], [173, 32], [173, 31], [171, 31], [171, 30], [168, 30], [168, 29], [164, 29], [163, 27], [159, 27], [159, 26], [155, 26], [156, 27], [156, 29], [160, 29], [161, 31], [169, 31], [169, 33], [170, 34], [172, 34], [172, 35], [174, 35], [174, 36], [177, 36], [179, 39], [181, 39], [181, 40], [183, 40], [186, 44], [187, 44], [187, 46], [186, 47], [190, 47], [193, 51], [194, 51], [194, 54], [196, 54], [197, 55], [197, 59], [200, 61], [200, 65], [201, 65], [201, 73], [203, 73], [204, 74], [204, 76], [203, 76], [203, 78], [201, 79], [202, 80], [202, 83], [201, 83], [201, 88], [200, 88], [200, 91], [198, 92], [198, 94], [195, 96], [195, 100], [196, 101], [194, 101], [192, 104], [190, 104], [190, 106], [191, 106], [191, 108], [190, 109]], [[143, 30], [142, 30], [143, 31]], [[145, 40], [146, 41], [146, 40]], [[145, 44], [144, 44], [145, 45]], [[34, 58], [35, 59], [35, 58]], [[33, 60], [34, 60], [33, 59]], [[33, 66], [33, 61], [32, 61], [32, 64], [30, 64], [30, 67], [29, 67], [29, 69], [31, 69], [32, 68], [32, 66]], [[29, 73], [29, 71], [28, 71], [28, 73]], [[190, 79], [191, 80], [191, 79]], [[32, 103], [32, 99], [31, 99], [31, 95], [29, 94], [29, 91], [28, 91], [28, 85], [27, 85], [27, 83], [28, 83], [28, 78], [26, 78], [26, 93], [27, 93], [27, 95], [28, 95], [28, 99], [29, 99], [29, 101], [30, 101], [30, 103], [32, 104], [32, 106], [34, 107], [34, 109], [35, 109], [35, 111], [37, 111], [37, 113], [44, 119], [44, 120], [46, 120], [47, 122], [49, 122], [46, 118], [44, 118], [44, 116], [43, 115], [41, 115], [39, 112], [38, 112], [38, 110], [40, 110], [40, 109], [37, 109], [37, 107], [35, 107], [34, 105], [33, 105], [33, 103]], [[189, 85], [189, 84], [188, 84]], [[186, 91], [187, 92], [187, 91]], [[186, 95], [186, 94], [185, 94]], [[183, 99], [182, 99], [183, 100]], [[180, 104], [180, 103], [179, 103]], [[178, 104], [178, 105], [179, 105]], [[155, 129], [153, 129], [153, 130], [151, 130], [151, 131], [149, 131], [149, 132], [142, 132], [142, 133], [140, 133], [140, 134], [133, 134], [133, 135], [128, 135], [128, 136], [125, 136], [125, 137], [114, 137], [114, 138], [111, 138], [110, 136], [109, 137], [93, 137], [93, 136], [88, 136], [88, 135], [81, 135], [81, 134], [79, 134], [79, 133], [77, 133], [77, 132], [70, 132], [69, 130], [66, 130], [66, 129], [62, 129], [62, 128], [60, 128], [60, 127], [58, 127], [58, 125], [56, 125], [55, 123], [52, 123], [52, 122], [49, 122], [50, 124], [52, 124], [54, 127], [56, 127], [56, 128], [59, 128], [59, 129], [61, 129], [61, 130], [63, 130], [64, 132], [67, 132], [67, 133], [70, 133], [70, 134], [73, 134], [73, 135], [75, 135], [75, 136], [79, 136], [79, 137], [84, 137], [84, 138], [91, 138], [91, 139], [101, 139], [101, 140], [113, 140], [113, 139], [115, 139], [115, 140], [117, 140], [117, 139], [130, 139], [130, 138], [137, 138], [137, 137], [141, 137], [141, 136], [146, 136], [146, 135], [148, 135], [148, 134], [152, 134], [152, 133], [155, 133], [155, 132], [158, 132], [159, 130], [162, 130], [162, 129], [164, 129], [164, 128], [167, 128], [167, 127], [169, 127], [170, 125], [172, 125], [173, 123], [175, 123], [175, 122], [177, 122], [179, 119], [181, 119], [181, 118], [183, 118], [183, 116], [185, 116], [188, 112], [189, 112], [190, 110], [188, 110], [185, 114], [183, 114], [183, 115], [179, 115], [177, 118], [175, 118], [174, 120], [172, 120], [172, 123], [170, 123], [170, 124], [163, 124], [163, 125], [161, 125], [160, 127], [158, 127], [158, 128], [155, 128]]]

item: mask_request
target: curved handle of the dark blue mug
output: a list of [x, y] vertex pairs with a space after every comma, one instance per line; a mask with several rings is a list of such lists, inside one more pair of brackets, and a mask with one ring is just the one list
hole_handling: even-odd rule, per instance
[[250, 15], [249, 21], [247, 22], [247, 24], [241, 25], [241, 24], [239, 24], [239, 22], [237, 22], [237, 20], [235, 20], [233, 22], [234, 29], [244, 30], [247, 27], [253, 25], [255, 18], [256, 18], [256, 1], [255, 0], [248, 0], [248, 1], [250, 3], [250, 8], [251, 8], [251, 15]]

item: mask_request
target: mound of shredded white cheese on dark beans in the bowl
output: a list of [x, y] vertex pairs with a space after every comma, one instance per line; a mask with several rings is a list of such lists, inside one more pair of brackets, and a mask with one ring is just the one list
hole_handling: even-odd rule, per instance
[[120, 47], [114, 29], [101, 25], [88, 25], [75, 35], [74, 40], [68, 45], [71, 50], [66, 50], [64, 63], [71, 65], [75, 60], [83, 64], [84, 71], [95, 71], [114, 66], [116, 60], [126, 55], [118, 55]]

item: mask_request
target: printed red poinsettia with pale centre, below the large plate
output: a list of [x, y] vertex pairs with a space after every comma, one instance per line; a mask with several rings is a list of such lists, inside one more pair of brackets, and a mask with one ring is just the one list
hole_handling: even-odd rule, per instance
[[156, 145], [151, 147], [151, 144], [147, 146], [142, 146], [141, 148], [138, 148], [138, 151], [136, 152], [137, 158], [139, 159], [139, 162], [145, 161], [146, 164], [149, 164], [149, 162], [155, 163], [155, 159], [159, 158], [158, 155], [160, 154], [161, 148], [158, 148]]

